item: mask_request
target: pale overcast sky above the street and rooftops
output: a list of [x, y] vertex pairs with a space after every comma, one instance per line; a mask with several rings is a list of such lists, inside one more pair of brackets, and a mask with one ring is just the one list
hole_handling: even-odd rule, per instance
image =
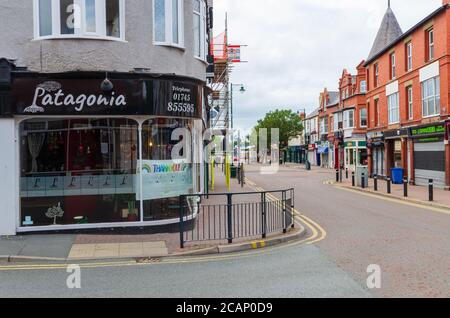
[[[405, 32], [442, 0], [391, 0]], [[214, 0], [215, 34], [228, 12], [230, 44], [246, 44], [232, 82], [235, 126], [247, 131], [267, 111], [318, 106], [324, 87], [337, 90], [342, 70], [352, 73], [372, 47], [387, 0]]]

